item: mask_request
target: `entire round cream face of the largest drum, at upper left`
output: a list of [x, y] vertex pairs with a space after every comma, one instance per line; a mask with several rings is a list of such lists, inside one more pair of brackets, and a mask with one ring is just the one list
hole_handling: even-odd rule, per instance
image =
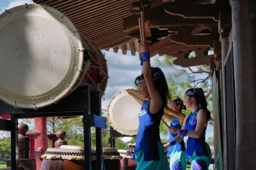
[[0, 99], [17, 108], [41, 108], [76, 89], [84, 70], [76, 27], [39, 4], [0, 15]]

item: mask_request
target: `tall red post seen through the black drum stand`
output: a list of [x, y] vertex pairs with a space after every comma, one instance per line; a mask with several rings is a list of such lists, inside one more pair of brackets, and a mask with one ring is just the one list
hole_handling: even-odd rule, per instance
[[39, 132], [40, 136], [35, 139], [36, 149], [36, 170], [40, 170], [42, 160], [39, 158], [48, 148], [46, 117], [35, 118], [35, 132]]

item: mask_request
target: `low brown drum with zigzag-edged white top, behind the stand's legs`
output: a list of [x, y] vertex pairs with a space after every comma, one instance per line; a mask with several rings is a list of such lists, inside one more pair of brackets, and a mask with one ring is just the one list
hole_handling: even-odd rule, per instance
[[[96, 169], [96, 148], [92, 147], [92, 169]], [[105, 170], [120, 170], [120, 153], [116, 148], [102, 148]], [[48, 148], [42, 155], [41, 170], [82, 170], [84, 167], [83, 146], [61, 145], [60, 148]]]

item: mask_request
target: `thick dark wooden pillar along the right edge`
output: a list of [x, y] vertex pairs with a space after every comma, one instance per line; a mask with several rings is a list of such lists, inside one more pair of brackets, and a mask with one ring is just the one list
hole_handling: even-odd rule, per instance
[[256, 1], [231, 2], [236, 91], [236, 169], [255, 169]]

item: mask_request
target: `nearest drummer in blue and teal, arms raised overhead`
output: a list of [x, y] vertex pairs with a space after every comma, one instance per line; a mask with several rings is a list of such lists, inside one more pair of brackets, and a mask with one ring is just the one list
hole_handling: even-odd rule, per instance
[[135, 79], [140, 87], [140, 93], [147, 101], [141, 106], [139, 127], [134, 155], [138, 162], [136, 169], [170, 169], [164, 154], [159, 136], [159, 125], [164, 114], [164, 106], [170, 99], [168, 85], [159, 67], [150, 66], [148, 46], [140, 46], [142, 55], [142, 74]]

